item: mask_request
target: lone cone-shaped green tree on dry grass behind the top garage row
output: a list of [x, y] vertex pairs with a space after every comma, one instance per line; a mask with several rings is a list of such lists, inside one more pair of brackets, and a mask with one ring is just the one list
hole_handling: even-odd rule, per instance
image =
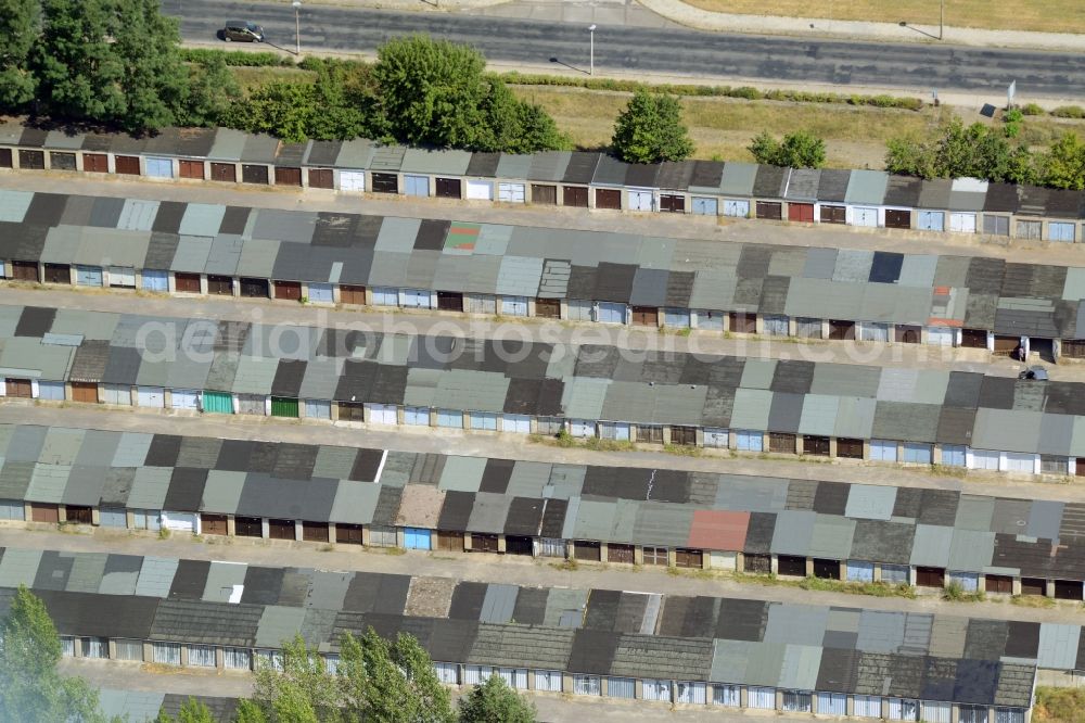
[[682, 161], [693, 153], [678, 99], [647, 90], [634, 93], [617, 116], [611, 142], [618, 157], [627, 163]]

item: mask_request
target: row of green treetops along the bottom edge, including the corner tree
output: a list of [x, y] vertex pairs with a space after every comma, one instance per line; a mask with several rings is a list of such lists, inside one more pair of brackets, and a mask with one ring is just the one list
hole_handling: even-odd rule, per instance
[[[102, 714], [97, 689], [58, 672], [61, 655], [44, 604], [21, 585], [0, 625], [0, 721], [120, 723]], [[390, 643], [369, 629], [343, 636], [334, 673], [301, 637], [285, 642], [281, 664], [257, 670], [237, 723], [535, 723], [534, 705], [496, 675], [463, 695], [457, 709], [416, 638], [400, 634]], [[156, 723], [213, 720], [190, 699], [176, 720], [161, 712]]]

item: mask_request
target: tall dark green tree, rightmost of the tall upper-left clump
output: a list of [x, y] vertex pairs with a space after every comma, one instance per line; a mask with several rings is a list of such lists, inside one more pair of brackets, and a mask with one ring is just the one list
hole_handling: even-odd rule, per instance
[[112, 50], [122, 67], [125, 99], [117, 120], [135, 132], [176, 123], [189, 85], [177, 50], [177, 21], [162, 14], [158, 0], [114, 0], [113, 11]]

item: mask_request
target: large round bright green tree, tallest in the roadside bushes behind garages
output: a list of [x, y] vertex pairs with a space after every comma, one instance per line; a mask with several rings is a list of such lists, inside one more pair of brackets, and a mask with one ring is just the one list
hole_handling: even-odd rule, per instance
[[471, 148], [483, 128], [482, 54], [425, 36], [396, 38], [378, 51], [373, 80], [388, 132], [412, 145]]

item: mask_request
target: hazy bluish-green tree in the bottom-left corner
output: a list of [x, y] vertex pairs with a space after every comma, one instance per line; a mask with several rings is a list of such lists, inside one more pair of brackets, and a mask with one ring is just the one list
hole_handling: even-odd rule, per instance
[[98, 692], [56, 672], [61, 642], [44, 604], [20, 585], [0, 631], [0, 720], [104, 722]]

